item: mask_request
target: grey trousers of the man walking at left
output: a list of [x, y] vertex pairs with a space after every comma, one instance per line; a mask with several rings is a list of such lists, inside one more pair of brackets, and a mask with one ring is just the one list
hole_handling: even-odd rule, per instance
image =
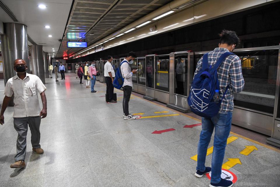
[[31, 144], [33, 148], [41, 148], [40, 146], [40, 116], [32, 117], [14, 117], [14, 128], [18, 133], [17, 136], [17, 154], [15, 162], [24, 160], [26, 155], [26, 136], [28, 125], [31, 132]]

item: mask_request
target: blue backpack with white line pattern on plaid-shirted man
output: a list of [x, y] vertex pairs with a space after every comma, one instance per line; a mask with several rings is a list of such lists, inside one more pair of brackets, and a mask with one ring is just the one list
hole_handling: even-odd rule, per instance
[[214, 102], [215, 90], [219, 90], [217, 69], [225, 58], [231, 54], [233, 53], [223, 53], [213, 67], [208, 67], [208, 53], [203, 55], [202, 69], [194, 76], [188, 97], [188, 105], [196, 115], [211, 118], [219, 112], [220, 104], [225, 97], [228, 86], [225, 89], [222, 99]]

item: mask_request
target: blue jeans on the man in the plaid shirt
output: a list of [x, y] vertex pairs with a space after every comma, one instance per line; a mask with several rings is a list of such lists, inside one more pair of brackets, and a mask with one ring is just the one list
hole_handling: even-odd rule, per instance
[[218, 113], [211, 119], [202, 117], [202, 131], [197, 146], [197, 167], [196, 169], [203, 172], [205, 170], [205, 158], [207, 148], [211, 140], [213, 130], [214, 149], [211, 164], [211, 183], [219, 183], [221, 180], [221, 169], [225, 156], [225, 146], [230, 134], [232, 112]]

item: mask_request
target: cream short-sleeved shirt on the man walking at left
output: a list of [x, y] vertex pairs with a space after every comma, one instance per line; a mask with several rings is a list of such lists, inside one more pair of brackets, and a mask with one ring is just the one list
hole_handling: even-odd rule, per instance
[[12, 97], [14, 94], [13, 117], [39, 116], [41, 109], [38, 101], [38, 93], [46, 90], [45, 85], [36, 75], [26, 73], [22, 80], [17, 75], [8, 80], [4, 94]]

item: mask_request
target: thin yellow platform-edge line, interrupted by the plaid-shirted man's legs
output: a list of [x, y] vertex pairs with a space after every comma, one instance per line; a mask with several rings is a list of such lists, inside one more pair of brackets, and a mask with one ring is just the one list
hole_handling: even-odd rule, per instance
[[[133, 94], [132, 94], [132, 95], [133, 95]], [[182, 112], [179, 112], [179, 111], [177, 111], [177, 110], [174, 110], [174, 109], [172, 109], [172, 108], [168, 108], [168, 107], [159, 105], [159, 104], [157, 104], [157, 103], [154, 103], [154, 102], [152, 102], [152, 101], [143, 99], [143, 98], [138, 97], [138, 96], [136, 96], [136, 95], [133, 95], [133, 96], [135, 96], [135, 97], [137, 97], [137, 98], [139, 98], [139, 99], [142, 99], [142, 100], [144, 100], [144, 101], [148, 101], [148, 102], [150, 102], [150, 103], [153, 103], [154, 105], [160, 106], [160, 107], [162, 107], [162, 108], [166, 108], [166, 109], [168, 109], [168, 110], [171, 110], [171, 111], [180, 113], [181, 115], [186, 116], [186, 117], [188, 117], [188, 118], [190, 118], [190, 119], [197, 120], [197, 121], [201, 122], [201, 120], [199, 120], [199, 119], [197, 119], [197, 118], [195, 118], [195, 117], [191, 117], [191, 116], [189, 116], [189, 115], [186, 115], [186, 114], [184, 114], [184, 113], [182, 113]], [[260, 146], [263, 146], [263, 147], [265, 147], [265, 148], [268, 148], [268, 149], [270, 149], [270, 150], [274, 150], [274, 151], [280, 153], [280, 150], [277, 149], [277, 148], [274, 148], [274, 147], [271, 147], [271, 146], [267, 146], [267, 145], [265, 145], [265, 144], [263, 144], [263, 143], [260, 143], [260, 142], [258, 142], [258, 141], [252, 140], [252, 139], [250, 139], [250, 138], [246, 138], [245, 136], [241, 136], [241, 135], [236, 134], [236, 133], [234, 133], [234, 132], [232, 132], [232, 131], [230, 131], [230, 134], [233, 134], [233, 135], [235, 135], [235, 136], [238, 136], [239, 138], [243, 138], [243, 139], [245, 139], [245, 140], [251, 141], [251, 142], [256, 143], [256, 144], [258, 144], [258, 145], [260, 145]]]

